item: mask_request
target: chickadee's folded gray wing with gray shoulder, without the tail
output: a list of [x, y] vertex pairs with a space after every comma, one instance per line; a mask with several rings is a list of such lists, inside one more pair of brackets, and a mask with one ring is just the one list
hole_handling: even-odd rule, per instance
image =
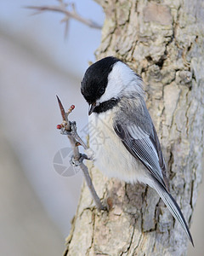
[[144, 99], [137, 96], [122, 98], [113, 128], [127, 150], [169, 190], [161, 145]]

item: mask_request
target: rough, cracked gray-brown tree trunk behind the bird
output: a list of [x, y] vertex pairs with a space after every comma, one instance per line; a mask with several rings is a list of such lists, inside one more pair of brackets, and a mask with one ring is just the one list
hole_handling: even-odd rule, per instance
[[[203, 1], [96, 2], [106, 15], [97, 59], [114, 55], [144, 79], [170, 191], [190, 224], [204, 151]], [[153, 189], [89, 170], [110, 211], [96, 210], [84, 183], [65, 255], [186, 255], [187, 236]]]

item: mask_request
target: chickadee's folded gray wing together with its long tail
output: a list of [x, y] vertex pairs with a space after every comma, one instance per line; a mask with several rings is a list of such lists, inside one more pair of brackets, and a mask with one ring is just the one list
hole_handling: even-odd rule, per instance
[[146, 119], [148, 119], [148, 123], [146, 124], [141, 123], [141, 120], [137, 120], [137, 117], [130, 124], [127, 119], [123, 119], [123, 121], [116, 119], [113, 127], [116, 135], [121, 138], [127, 150], [150, 171], [153, 181], [151, 185], [153, 185], [153, 188], [161, 196], [169, 211], [172, 212], [173, 217], [178, 219], [191, 243], [194, 245], [184, 215], [178, 207], [177, 202], [167, 191], [165, 177], [162, 172], [162, 169], [166, 170], [166, 167], [161, 154], [161, 146], [151, 119], [148, 118], [148, 115], [144, 114], [144, 123]]

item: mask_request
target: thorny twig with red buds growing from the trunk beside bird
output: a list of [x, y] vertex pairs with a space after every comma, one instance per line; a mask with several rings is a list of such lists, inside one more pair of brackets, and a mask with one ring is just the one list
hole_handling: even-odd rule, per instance
[[102, 205], [99, 196], [97, 195], [94, 185], [92, 183], [91, 177], [88, 173], [88, 167], [84, 165], [83, 160], [91, 160], [88, 159], [88, 156], [86, 154], [80, 154], [78, 146], [82, 145], [84, 149], [88, 149], [88, 146], [82, 141], [82, 138], [79, 137], [77, 134], [77, 125], [76, 122], [70, 122], [68, 119], [68, 115], [72, 112], [72, 110], [75, 108], [74, 105], [71, 105], [71, 108], [68, 109], [67, 113], [65, 113], [65, 108], [63, 107], [62, 103], [59, 100], [59, 97], [57, 96], [57, 100], [59, 103], [59, 109], [62, 116], [62, 124], [57, 125], [57, 128], [61, 131], [61, 134], [67, 135], [71, 142], [71, 148], [73, 150], [73, 156], [71, 157], [71, 164], [74, 167], [80, 166], [83, 172], [83, 175], [85, 177], [86, 183], [88, 185], [88, 189], [93, 196], [94, 202], [96, 204], [96, 207], [99, 211], [105, 210], [105, 207]]

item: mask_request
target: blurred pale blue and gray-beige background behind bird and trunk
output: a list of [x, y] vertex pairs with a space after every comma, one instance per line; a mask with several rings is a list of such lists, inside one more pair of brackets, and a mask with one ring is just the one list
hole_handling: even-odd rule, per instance
[[[92, 0], [75, 0], [77, 13], [103, 25], [103, 9]], [[55, 95], [86, 136], [88, 106], [80, 82], [95, 61], [100, 30], [76, 20], [64, 38], [63, 15], [31, 15], [27, 5], [53, 5], [55, 0], [0, 2], [0, 255], [61, 255], [71, 228], [82, 184], [82, 173], [65, 177], [54, 170], [54, 155], [69, 147], [59, 135], [61, 122]], [[64, 156], [65, 157], [65, 156]], [[62, 164], [68, 164], [68, 157]], [[204, 251], [204, 186], [199, 191], [192, 235]], [[200, 253], [202, 252], [202, 253]]]

